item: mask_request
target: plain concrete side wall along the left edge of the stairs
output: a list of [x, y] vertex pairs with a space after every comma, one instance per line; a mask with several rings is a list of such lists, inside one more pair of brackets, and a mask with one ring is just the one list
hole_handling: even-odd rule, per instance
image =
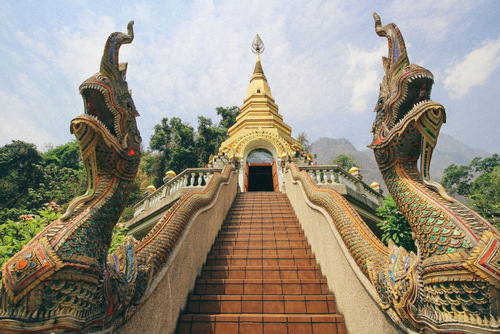
[[186, 226], [179, 242], [155, 278], [153, 292], [135, 315], [114, 331], [120, 334], [173, 333], [177, 319], [194, 289], [196, 277], [237, 193], [237, 171], [231, 173], [212, 203]]

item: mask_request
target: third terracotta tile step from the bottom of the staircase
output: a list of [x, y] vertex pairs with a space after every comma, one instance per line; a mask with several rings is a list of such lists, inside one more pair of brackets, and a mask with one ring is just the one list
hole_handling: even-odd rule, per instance
[[202, 295], [326, 295], [326, 279], [203, 279], [195, 294]]

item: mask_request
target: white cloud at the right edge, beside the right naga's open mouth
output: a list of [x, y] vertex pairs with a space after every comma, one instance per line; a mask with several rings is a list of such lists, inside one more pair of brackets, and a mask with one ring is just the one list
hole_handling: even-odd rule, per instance
[[452, 99], [464, 97], [474, 86], [482, 85], [500, 64], [500, 38], [485, 42], [461, 61], [446, 69], [444, 87]]

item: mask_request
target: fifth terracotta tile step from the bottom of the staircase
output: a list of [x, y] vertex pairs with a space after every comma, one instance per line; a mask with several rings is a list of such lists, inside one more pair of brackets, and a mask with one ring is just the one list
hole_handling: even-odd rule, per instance
[[314, 255], [209, 255], [207, 266], [314, 266]]

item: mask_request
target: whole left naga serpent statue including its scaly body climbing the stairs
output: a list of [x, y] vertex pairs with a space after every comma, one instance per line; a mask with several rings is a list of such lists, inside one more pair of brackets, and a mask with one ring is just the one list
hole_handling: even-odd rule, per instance
[[[2, 267], [0, 332], [61, 333], [112, 330], [130, 318], [152, 290], [193, 212], [214, 198], [234, 167], [184, 195], [141, 241], [128, 238], [108, 255], [113, 228], [137, 174], [139, 116], [118, 62], [127, 34], [106, 42], [100, 72], [83, 82], [85, 114], [71, 122], [87, 170], [88, 189]], [[156, 283], [156, 281], [155, 281]], [[149, 289], [149, 290], [148, 290]]]

